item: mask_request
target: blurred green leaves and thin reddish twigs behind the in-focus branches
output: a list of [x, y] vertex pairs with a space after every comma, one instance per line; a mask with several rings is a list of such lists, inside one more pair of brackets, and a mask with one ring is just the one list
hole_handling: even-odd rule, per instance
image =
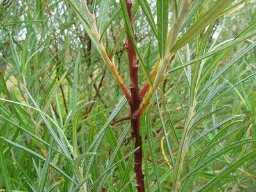
[[[148, 2], [153, 15], [156, 15], [156, 3], [154, 1]], [[214, 22], [214, 27], [207, 40], [207, 49], [211, 47], [215, 40], [216, 45], [221, 44], [226, 40], [236, 37], [250, 24], [255, 22], [256, 1], [241, 2], [239, 6], [230, 10], [225, 17], [220, 17], [220, 19]], [[213, 1], [201, 1], [200, 8], [198, 9], [200, 11], [198, 12], [199, 17], [204, 15], [205, 10], [208, 10], [212, 3]], [[107, 19], [119, 7], [119, 1], [111, 1]], [[99, 14], [99, 2], [96, 3], [97, 14]], [[192, 18], [191, 23], [194, 22], [193, 20]], [[156, 37], [153, 35], [141, 8], [138, 9], [138, 13], [134, 17], [134, 28], [138, 37], [138, 46], [149, 70], [152, 68], [150, 63], [155, 63], [154, 61], [157, 59], [158, 50]], [[189, 24], [187, 28], [189, 28]], [[104, 35], [104, 46], [109, 55], [112, 54], [113, 48], [122, 33], [124, 33], [124, 18], [120, 12], [109, 26], [106, 35]], [[129, 71], [127, 54], [125, 52], [125, 37], [121, 38], [121, 40], [122, 43], [115, 53], [115, 64], [120, 75], [128, 85]], [[207, 84], [209, 79], [220, 72], [229, 61], [236, 57], [237, 52], [246, 49], [252, 44], [253, 40], [255, 40], [255, 36], [232, 47], [225, 54], [225, 57], [218, 62], [216, 67], [212, 69], [209, 76], [205, 77], [202, 84]], [[182, 63], [193, 60], [195, 56], [196, 45], [194, 40], [180, 49], [179, 56], [175, 58], [172, 68], [179, 67]], [[20, 106], [19, 103], [22, 103], [37, 108], [31, 100], [32, 97], [36, 104], [38, 104], [38, 108], [51, 116], [55, 124], [60, 126], [67, 140], [72, 142], [72, 113], [70, 113], [70, 110], [72, 109], [72, 90], [76, 76], [74, 67], [77, 63], [77, 58], [79, 60], [77, 81], [75, 81], [77, 86], [77, 106], [90, 102], [83, 108], [79, 116], [79, 125], [77, 126], [79, 153], [83, 154], [88, 150], [93, 137], [106, 123], [118, 100], [122, 98], [123, 94], [120, 88], [117, 86], [106, 65], [104, 65], [95, 47], [93, 47], [76, 13], [70, 8], [70, 4], [67, 1], [0, 1], [1, 137], [29, 148], [43, 157], [47, 157], [47, 152], [49, 152], [49, 145], [45, 143], [52, 143], [53, 147], [58, 148], [54, 141], [52, 141], [52, 134], [46, 129], [47, 125], [42, 120], [40, 113], [33, 108]], [[208, 63], [215, 59], [216, 56], [209, 58], [205, 62], [206, 67], [202, 70], [205, 71]], [[241, 81], [241, 79], [252, 75], [255, 72], [255, 61], [256, 48], [254, 47], [252, 51], [236, 61], [235, 65], [228, 68], [220, 78], [212, 82], [209, 92], [213, 92], [220, 84], [227, 81], [221, 87], [221, 92], [225, 92], [225, 90], [228, 90], [228, 88]], [[191, 68], [193, 68], [193, 65], [191, 65]], [[145, 82], [142, 70], [140, 71], [140, 79], [140, 85], [142, 85]], [[218, 129], [215, 129], [199, 140], [196, 145], [189, 149], [187, 160], [189, 157], [193, 157], [200, 152], [225, 125], [227, 125], [228, 129], [236, 129], [248, 122], [251, 116], [255, 115], [255, 85], [256, 77], [252, 76], [216, 100], [202, 113], [205, 115], [211, 110], [218, 109], [224, 105], [232, 106], [232, 108], [221, 109], [219, 113], [200, 123], [195, 134], [192, 136], [193, 139], [219, 122], [230, 118], [230, 116], [241, 116], [236, 116], [234, 120], [221, 125]], [[28, 89], [28, 92], [26, 92], [24, 87]], [[170, 163], [170, 157], [166, 155], [168, 154], [168, 148], [164, 143], [163, 122], [165, 122], [173, 156], [175, 156], [179, 143], [177, 143], [177, 139], [172, 133], [172, 128], [175, 129], [177, 138], [180, 139], [182, 128], [186, 121], [186, 111], [189, 106], [188, 91], [188, 80], [184, 70], [177, 70], [170, 74], [159, 87], [159, 108], [157, 108], [156, 98], [152, 100], [150, 121], [153, 129], [157, 164], [164, 191], [170, 191], [172, 188], [172, 164]], [[28, 93], [31, 94], [31, 97]], [[202, 95], [198, 99], [199, 106], [205, 97], [207, 97], [207, 94]], [[6, 100], [12, 100], [13, 102]], [[163, 116], [163, 122], [159, 118], [159, 109]], [[243, 133], [239, 132], [235, 137], [228, 138], [214, 148], [213, 152], [242, 138], [252, 138], [253, 135], [255, 137], [256, 133], [253, 132], [253, 130], [256, 130], [255, 121], [253, 120], [252, 122], [253, 125], [249, 129], [246, 129]], [[54, 126], [52, 122], [49, 124], [52, 127]], [[120, 140], [121, 136], [123, 136], [122, 132], [127, 129], [128, 125], [129, 108], [125, 105], [113, 121], [108, 124], [108, 130], [111, 128], [112, 131], [103, 138], [100, 144], [97, 156], [93, 161], [92, 172], [90, 173], [92, 178], [89, 179], [88, 183], [92, 184], [106, 170], [109, 157], [111, 157], [113, 149], [116, 147], [116, 143], [113, 143], [114, 139], [111, 137], [114, 136], [115, 141]], [[56, 128], [54, 130], [56, 132], [59, 131]], [[45, 143], [35, 140], [35, 137], [31, 137], [28, 132], [42, 138]], [[156, 175], [153, 172], [152, 157], [150, 156], [150, 149], [147, 147], [147, 131], [144, 136], [146, 155], [144, 160], [147, 161], [146, 164], [148, 166], [148, 186], [150, 186], [152, 191], [158, 191], [155, 184]], [[113, 146], [115, 147], [113, 148]], [[227, 156], [222, 155], [214, 159], [214, 161], [211, 161], [210, 164], [207, 164], [207, 166], [204, 166], [204, 168], [196, 173], [196, 177], [188, 189], [191, 191], [198, 186], [203, 186], [225, 168], [228, 163], [236, 160], [239, 154], [250, 151], [253, 147], [255, 147], [255, 144], [246, 144], [243, 147], [234, 148], [234, 150], [227, 153]], [[67, 146], [67, 148], [71, 147]], [[34, 189], [37, 191], [42, 185], [41, 180], [42, 176], [44, 176], [42, 172], [45, 170], [42, 159], [40, 160], [36, 156], [32, 156], [30, 153], [4, 140], [1, 140], [1, 150], [0, 188], [7, 189], [7, 191], [8, 187], [17, 191], [33, 191]], [[129, 132], [126, 132], [119, 150], [121, 158], [129, 154], [131, 150], [131, 136]], [[211, 152], [209, 152], [209, 156], [211, 156]], [[52, 163], [56, 164], [74, 179], [74, 164], [72, 162], [55, 150], [52, 150], [50, 157]], [[226, 176], [214, 189], [219, 191], [256, 190], [255, 156], [253, 158], [244, 167], [240, 167]], [[116, 171], [116, 167], [112, 168], [104, 182], [104, 186], [108, 188], [107, 191], [116, 191], [124, 187], [124, 191], [135, 191], [134, 187], [127, 188], [125, 184], [120, 184], [120, 180], [127, 183], [130, 182], [132, 186], [136, 184], [131, 163], [129, 164], [127, 159], [124, 162], [130, 168], [129, 173], [127, 173], [129, 179], [125, 180], [122, 177], [123, 175]], [[195, 160], [191, 162], [195, 164]], [[184, 172], [188, 173], [191, 170], [193, 163], [191, 164], [184, 169]], [[4, 171], [4, 167], [6, 171]], [[84, 167], [86, 167], [86, 163], [84, 163]], [[47, 171], [51, 172], [51, 174], [47, 174], [45, 179], [45, 190], [72, 191], [72, 189], [76, 188], [76, 184], [71, 184], [70, 180], [51, 167]], [[8, 178], [6, 179], [6, 177]], [[8, 183], [9, 186], [6, 186]], [[90, 184], [88, 188], [90, 188]], [[93, 190], [96, 191], [96, 189], [97, 185]]]

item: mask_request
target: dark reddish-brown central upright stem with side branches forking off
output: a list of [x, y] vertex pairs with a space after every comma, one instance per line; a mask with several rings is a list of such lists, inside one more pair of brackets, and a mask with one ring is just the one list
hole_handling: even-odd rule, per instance
[[[129, 21], [133, 31], [132, 22], [132, 2], [126, 0], [126, 7], [129, 14]], [[133, 31], [134, 33], [134, 31]], [[130, 71], [130, 90], [131, 90], [131, 100], [129, 100], [129, 105], [131, 108], [131, 134], [132, 140], [135, 140], [135, 148], [138, 150], [134, 153], [134, 172], [136, 173], [137, 189], [139, 192], [144, 192], [144, 174], [142, 172], [142, 148], [141, 148], [141, 134], [140, 134], [140, 116], [136, 116], [136, 112], [140, 108], [141, 96], [140, 88], [138, 82], [138, 68], [139, 61], [136, 56], [134, 46], [132, 45], [131, 37], [127, 33], [127, 42], [125, 45], [128, 59], [129, 59], [129, 71]]]

